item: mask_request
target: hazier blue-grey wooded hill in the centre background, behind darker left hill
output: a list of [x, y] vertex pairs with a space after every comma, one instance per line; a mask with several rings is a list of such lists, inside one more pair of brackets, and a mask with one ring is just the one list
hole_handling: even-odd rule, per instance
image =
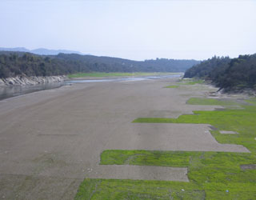
[[191, 66], [199, 63], [196, 60], [175, 60], [160, 58], [156, 60], [133, 61], [123, 58], [106, 56], [58, 54], [55, 58], [79, 62], [88, 66], [90, 71], [102, 72], [185, 72]]

